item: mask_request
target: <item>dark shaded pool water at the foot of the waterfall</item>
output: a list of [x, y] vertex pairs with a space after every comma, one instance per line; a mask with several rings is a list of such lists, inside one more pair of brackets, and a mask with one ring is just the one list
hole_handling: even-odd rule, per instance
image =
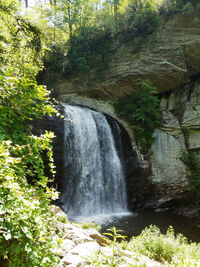
[[149, 226], [156, 225], [160, 228], [162, 233], [166, 233], [167, 228], [173, 226], [175, 233], [181, 233], [189, 241], [200, 242], [200, 228], [198, 228], [192, 219], [177, 216], [169, 212], [155, 213], [151, 210], [145, 210], [138, 212], [137, 215], [118, 218], [112, 223], [102, 226], [102, 233], [106, 232], [106, 229], [115, 226], [117, 229], [123, 230], [123, 235], [128, 238], [137, 236], [141, 231]]

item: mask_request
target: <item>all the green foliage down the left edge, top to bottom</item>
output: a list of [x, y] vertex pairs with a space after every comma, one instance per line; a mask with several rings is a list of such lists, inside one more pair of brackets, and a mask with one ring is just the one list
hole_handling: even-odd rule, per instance
[[0, 262], [55, 266], [49, 204], [57, 193], [47, 186], [42, 157], [45, 152], [53, 178], [53, 134], [33, 136], [28, 127], [54, 109], [35, 78], [43, 54], [41, 30], [20, 15], [18, 4], [0, 0]]

